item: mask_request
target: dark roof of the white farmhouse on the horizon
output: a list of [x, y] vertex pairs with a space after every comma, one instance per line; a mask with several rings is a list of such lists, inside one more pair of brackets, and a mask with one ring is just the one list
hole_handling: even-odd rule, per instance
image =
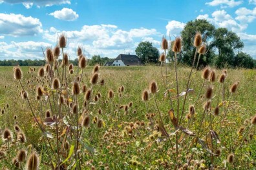
[[116, 57], [116, 60], [122, 60], [126, 66], [138, 66], [143, 65], [143, 62], [137, 55], [120, 54]]

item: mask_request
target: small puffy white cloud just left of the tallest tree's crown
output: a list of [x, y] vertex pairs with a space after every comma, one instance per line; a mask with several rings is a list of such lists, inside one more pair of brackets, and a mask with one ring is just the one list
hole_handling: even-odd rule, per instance
[[183, 30], [185, 23], [181, 23], [179, 21], [169, 21], [168, 24], [165, 26], [167, 32], [166, 35], [180, 35], [180, 32]]

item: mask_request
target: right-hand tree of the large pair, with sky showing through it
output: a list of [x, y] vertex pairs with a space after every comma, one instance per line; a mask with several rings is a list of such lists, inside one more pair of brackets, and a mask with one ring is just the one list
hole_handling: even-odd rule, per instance
[[244, 43], [240, 41], [240, 37], [227, 28], [218, 28], [213, 35], [212, 46], [217, 48], [218, 58], [215, 65], [223, 67], [224, 64], [229, 66], [237, 65], [235, 63], [235, 53], [242, 50]]

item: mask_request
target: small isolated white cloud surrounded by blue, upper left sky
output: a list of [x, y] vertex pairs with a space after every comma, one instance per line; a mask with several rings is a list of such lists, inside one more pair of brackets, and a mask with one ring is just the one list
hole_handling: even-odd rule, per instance
[[72, 9], [63, 8], [62, 10], [56, 10], [55, 12], [50, 13], [49, 15], [54, 16], [57, 19], [66, 20], [66, 21], [74, 21], [78, 19], [78, 14], [74, 12]]

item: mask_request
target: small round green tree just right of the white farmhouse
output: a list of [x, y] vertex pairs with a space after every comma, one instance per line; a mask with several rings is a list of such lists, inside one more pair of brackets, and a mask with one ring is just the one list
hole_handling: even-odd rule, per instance
[[158, 62], [159, 52], [157, 48], [153, 47], [151, 42], [140, 42], [135, 52], [136, 55], [145, 63]]

